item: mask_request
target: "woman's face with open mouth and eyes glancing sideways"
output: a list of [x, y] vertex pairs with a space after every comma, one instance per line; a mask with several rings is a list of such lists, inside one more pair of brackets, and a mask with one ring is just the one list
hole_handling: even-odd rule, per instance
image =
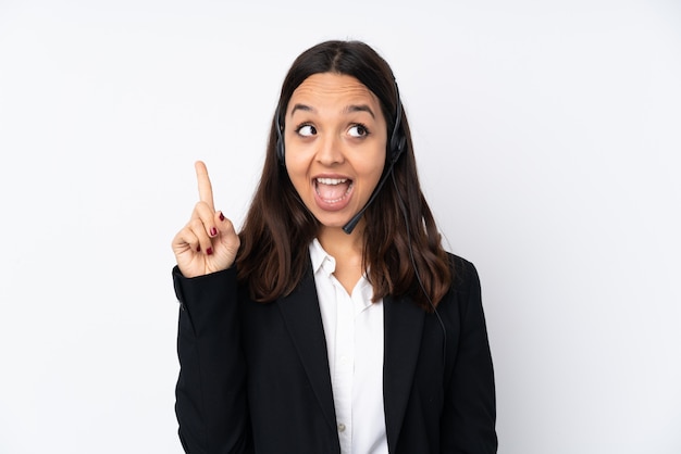
[[343, 227], [383, 173], [387, 128], [379, 99], [355, 77], [314, 74], [294, 91], [285, 125], [296, 191], [323, 226]]

